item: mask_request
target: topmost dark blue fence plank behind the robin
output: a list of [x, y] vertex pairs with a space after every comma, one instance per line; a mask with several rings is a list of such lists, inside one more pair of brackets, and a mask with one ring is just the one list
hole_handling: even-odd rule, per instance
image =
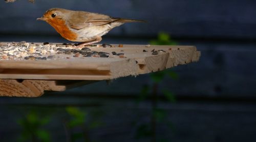
[[0, 2], [0, 32], [55, 33], [42, 21], [35, 21], [46, 10], [60, 7], [148, 20], [147, 24], [133, 23], [117, 28], [112, 35], [154, 36], [159, 31], [178, 37], [255, 38], [255, 1], [37, 1], [26, 0], [5, 4]]

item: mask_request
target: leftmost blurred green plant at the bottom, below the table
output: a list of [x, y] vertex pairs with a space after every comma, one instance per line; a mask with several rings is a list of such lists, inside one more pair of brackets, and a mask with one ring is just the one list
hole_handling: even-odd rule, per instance
[[44, 129], [44, 126], [49, 122], [50, 116], [31, 109], [25, 117], [17, 120], [19, 126], [22, 127], [22, 133], [18, 137], [18, 141], [51, 141], [50, 132]]

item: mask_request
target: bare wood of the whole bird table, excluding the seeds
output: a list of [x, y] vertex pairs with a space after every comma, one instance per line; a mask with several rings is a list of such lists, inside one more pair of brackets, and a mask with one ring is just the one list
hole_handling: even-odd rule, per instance
[[[157, 72], [199, 60], [195, 46], [118, 45], [89, 47], [123, 53], [109, 58], [78, 57], [57, 60], [0, 60], [0, 96], [39, 97], [45, 90], [63, 91], [72, 84], [110, 80]], [[152, 55], [158, 51], [157, 55]], [[69, 80], [69, 81], [68, 81]]]

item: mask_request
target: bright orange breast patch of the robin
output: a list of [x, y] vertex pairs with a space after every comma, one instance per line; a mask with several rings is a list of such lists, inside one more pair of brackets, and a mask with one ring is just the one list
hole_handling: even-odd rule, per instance
[[76, 41], [77, 35], [72, 32], [66, 25], [65, 20], [54, 19], [47, 21], [63, 38], [70, 41]]

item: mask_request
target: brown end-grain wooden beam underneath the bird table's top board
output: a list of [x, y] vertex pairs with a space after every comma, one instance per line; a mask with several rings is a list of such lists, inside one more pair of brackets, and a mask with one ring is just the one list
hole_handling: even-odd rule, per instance
[[0, 79], [0, 96], [40, 97], [45, 91], [65, 91], [95, 81], [6, 80]]

